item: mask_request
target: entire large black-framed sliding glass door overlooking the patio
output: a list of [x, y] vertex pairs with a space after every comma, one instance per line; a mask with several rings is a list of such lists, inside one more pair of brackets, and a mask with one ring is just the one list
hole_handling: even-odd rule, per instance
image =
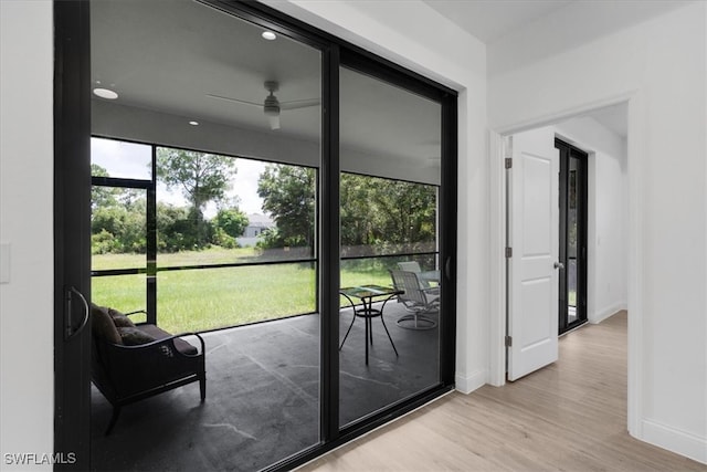
[[119, 328], [150, 327], [207, 373], [203, 402], [198, 382], [116, 402], [77, 368], [91, 469], [291, 469], [452, 389], [456, 94], [256, 2], [89, 6], [65, 28], [91, 67], [62, 76], [89, 127], [57, 119], [91, 144], [64, 182], [91, 192], [82, 286], [139, 312], [110, 321], [123, 371], [149, 378], [152, 340]]

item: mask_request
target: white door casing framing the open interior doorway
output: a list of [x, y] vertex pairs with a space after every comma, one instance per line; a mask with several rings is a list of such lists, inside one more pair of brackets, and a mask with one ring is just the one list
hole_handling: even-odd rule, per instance
[[[595, 108], [604, 106], [618, 105], [621, 103], [629, 104], [629, 139], [627, 139], [627, 168], [629, 168], [629, 263], [627, 263], [627, 293], [629, 300], [626, 308], [629, 310], [629, 376], [627, 376], [627, 429], [631, 436], [643, 440], [642, 433], [642, 412], [643, 412], [643, 390], [641, 389], [643, 380], [643, 263], [641, 254], [643, 252], [643, 233], [641, 231], [643, 212], [643, 200], [641, 198], [643, 190], [643, 172], [640, 164], [640, 156], [644, 155], [645, 147], [645, 116], [643, 109], [645, 107], [644, 94], [641, 91], [630, 91], [623, 94], [613, 95], [604, 99], [594, 101], [578, 105], [571, 108], [562, 109], [557, 113], [539, 116], [534, 119], [527, 119], [520, 123], [498, 126], [490, 130], [492, 143], [499, 139], [503, 135], [510, 135], [526, 129], [551, 125], [560, 120], [591, 112]], [[503, 156], [502, 156], [503, 157]], [[505, 190], [502, 190], [497, 179], [503, 169], [503, 159], [498, 158], [496, 146], [489, 146], [489, 181], [492, 189], [489, 191], [489, 211], [492, 212], [492, 222], [500, 218], [494, 212], [505, 211]], [[494, 186], [496, 188], [494, 188]], [[505, 189], [505, 187], [504, 187]], [[505, 229], [498, 224], [490, 224], [490, 241], [493, 244], [505, 241]], [[505, 378], [505, 345], [504, 336], [499, 326], [505, 329], [505, 279], [498, 277], [498, 274], [505, 273], [505, 261], [500, 258], [490, 259], [489, 282], [490, 290], [490, 323], [495, 336], [489, 338], [489, 379], [497, 380]], [[499, 287], [499, 284], [502, 286]], [[503, 321], [502, 321], [503, 319]], [[499, 333], [500, 332], [500, 333]], [[490, 333], [489, 333], [490, 334]], [[499, 354], [503, 353], [503, 354]], [[500, 357], [500, 358], [499, 358]], [[496, 384], [494, 384], [496, 385]], [[503, 385], [503, 384], [500, 384]]]

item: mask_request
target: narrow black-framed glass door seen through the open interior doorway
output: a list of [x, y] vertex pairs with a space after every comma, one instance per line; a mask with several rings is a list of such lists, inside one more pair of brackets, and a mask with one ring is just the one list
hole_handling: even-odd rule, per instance
[[555, 139], [560, 151], [558, 334], [587, 323], [588, 154]]

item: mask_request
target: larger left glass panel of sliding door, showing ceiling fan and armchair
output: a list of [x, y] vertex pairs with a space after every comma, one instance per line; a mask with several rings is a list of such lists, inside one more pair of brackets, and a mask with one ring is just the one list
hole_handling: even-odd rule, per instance
[[91, 4], [92, 132], [133, 156], [96, 164], [146, 199], [141, 245], [114, 258], [141, 272], [94, 287], [199, 334], [207, 371], [205, 401], [197, 382], [126, 406], [110, 436], [94, 391], [96, 470], [260, 470], [319, 443], [323, 56], [220, 7]]

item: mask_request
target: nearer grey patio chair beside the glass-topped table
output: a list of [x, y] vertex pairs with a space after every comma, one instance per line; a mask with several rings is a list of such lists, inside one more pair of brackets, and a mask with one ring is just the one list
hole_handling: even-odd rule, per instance
[[426, 316], [440, 311], [440, 289], [420, 286], [418, 274], [410, 271], [389, 271], [393, 286], [404, 293], [398, 295], [398, 302], [405, 306], [409, 314], [398, 319], [398, 326], [408, 329], [432, 329], [437, 323]]

